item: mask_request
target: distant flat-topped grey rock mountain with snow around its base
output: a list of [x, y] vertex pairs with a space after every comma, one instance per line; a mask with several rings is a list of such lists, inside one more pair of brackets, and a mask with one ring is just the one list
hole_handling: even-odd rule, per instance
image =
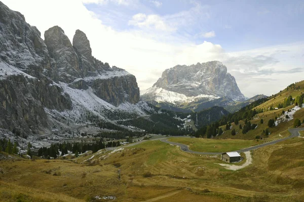
[[153, 87], [141, 95], [142, 100], [162, 109], [193, 111], [217, 106], [222, 98], [228, 100], [225, 105], [246, 100], [235, 78], [219, 61], [176, 65], [165, 70]]

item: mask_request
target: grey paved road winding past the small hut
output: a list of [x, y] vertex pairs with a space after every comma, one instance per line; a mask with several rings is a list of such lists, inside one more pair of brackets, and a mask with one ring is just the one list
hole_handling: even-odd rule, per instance
[[[292, 129], [289, 129], [289, 132], [291, 132], [291, 136], [289, 136], [287, 138], [282, 138], [282, 139], [279, 139], [279, 140], [275, 140], [275, 141], [272, 141], [272, 142], [269, 142], [269, 143], [264, 143], [264, 144], [261, 144], [261, 145], [249, 147], [249, 148], [246, 148], [246, 149], [240, 149], [240, 150], [237, 150], [237, 152], [251, 151], [251, 150], [254, 150], [254, 149], [261, 148], [261, 147], [265, 147], [265, 146], [269, 146], [269, 145], [274, 145], [274, 144], [282, 142], [284, 140], [288, 140], [288, 139], [291, 139], [291, 138], [298, 137], [300, 135], [300, 133], [299, 133], [300, 130], [304, 130], [304, 128], [292, 128]], [[180, 149], [182, 151], [188, 152], [188, 153], [193, 153], [193, 154], [217, 155], [217, 154], [222, 154], [223, 153], [223, 152], [197, 152], [197, 151], [189, 150], [188, 146], [184, 145], [184, 144], [170, 142], [167, 139], [162, 139], [161, 141], [164, 142], [164, 143], [171, 144], [171, 145], [177, 145], [177, 146], [180, 147]]]

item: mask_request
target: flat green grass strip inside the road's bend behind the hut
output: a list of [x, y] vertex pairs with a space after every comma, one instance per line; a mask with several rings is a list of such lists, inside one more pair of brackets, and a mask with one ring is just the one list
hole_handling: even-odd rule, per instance
[[185, 144], [190, 150], [199, 152], [229, 152], [244, 149], [262, 141], [256, 140], [214, 140], [203, 138], [170, 138], [169, 141]]

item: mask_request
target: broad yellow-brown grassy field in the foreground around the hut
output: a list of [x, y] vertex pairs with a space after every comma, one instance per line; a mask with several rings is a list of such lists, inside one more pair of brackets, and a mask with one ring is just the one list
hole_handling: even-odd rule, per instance
[[[253, 152], [253, 164], [225, 170], [219, 156], [200, 156], [147, 141], [72, 160], [1, 161], [2, 201], [301, 201], [304, 139]], [[32, 181], [35, 179], [35, 181]]]

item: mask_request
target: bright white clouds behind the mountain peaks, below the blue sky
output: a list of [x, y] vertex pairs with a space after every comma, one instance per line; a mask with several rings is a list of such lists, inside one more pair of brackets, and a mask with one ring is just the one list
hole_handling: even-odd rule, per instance
[[190, 65], [210, 60], [222, 61], [248, 97], [260, 93], [270, 95], [303, 79], [298, 72], [303, 70], [304, 42], [226, 52], [220, 45], [206, 41], [195, 44], [170, 34], [169, 40], [159, 40], [158, 36], [162, 35], [154, 30], [174, 33], [172, 27], [187, 26], [196, 20], [199, 13], [202, 14], [200, 20], [208, 18], [208, 8], [200, 5], [163, 17], [134, 15], [130, 23], [151, 29], [147, 35], [147, 32], [138, 30], [116, 31], [105, 26], [94, 13], [86, 9], [82, 0], [31, 0], [30, 4], [24, 0], [2, 2], [21, 12], [29, 24], [42, 32], [42, 37], [45, 30], [58, 25], [72, 41], [75, 30], [81, 29], [90, 40], [93, 55], [134, 74], [141, 90], [151, 87], [165, 69], [176, 64]]

